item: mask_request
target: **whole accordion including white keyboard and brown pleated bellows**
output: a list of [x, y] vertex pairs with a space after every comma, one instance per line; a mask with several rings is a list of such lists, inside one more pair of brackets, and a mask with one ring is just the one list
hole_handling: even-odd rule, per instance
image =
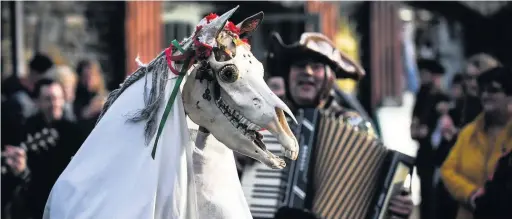
[[[256, 164], [242, 176], [253, 217], [274, 218], [278, 208], [288, 207], [325, 219], [390, 218], [389, 199], [410, 182], [414, 158], [326, 111], [303, 109], [297, 120], [298, 159], [287, 160], [283, 170]], [[268, 135], [263, 141], [277, 142]]]

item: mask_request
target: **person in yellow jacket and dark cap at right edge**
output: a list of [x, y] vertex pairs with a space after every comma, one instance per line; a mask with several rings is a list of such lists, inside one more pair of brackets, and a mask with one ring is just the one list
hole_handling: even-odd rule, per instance
[[[494, 172], [500, 156], [512, 150], [512, 71], [505, 67], [488, 70], [478, 78], [483, 112], [460, 132], [441, 177], [459, 202], [457, 219], [472, 219], [474, 200]], [[511, 205], [512, 207], [512, 205]]]

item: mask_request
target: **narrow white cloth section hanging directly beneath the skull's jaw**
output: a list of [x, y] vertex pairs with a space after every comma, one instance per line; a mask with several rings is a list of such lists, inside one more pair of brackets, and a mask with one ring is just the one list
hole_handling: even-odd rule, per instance
[[[191, 134], [195, 140], [196, 131], [191, 131]], [[233, 151], [212, 135], [196, 141], [196, 145], [193, 159], [199, 218], [251, 219]]]

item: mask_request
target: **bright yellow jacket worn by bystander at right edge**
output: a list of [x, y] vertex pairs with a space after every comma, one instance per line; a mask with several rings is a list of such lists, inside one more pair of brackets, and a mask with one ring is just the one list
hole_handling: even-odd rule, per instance
[[[450, 154], [441, 167], [441, 177], [450, 194], [460, 203], [457, 219], [472, 219], [468, 201], [471, 194], [483, 187], [494, 172], [496, 162], [505, 151], [512, 150], [512, 122], [490, 139], [483, 130], [480, 114], [462, 129]], [[494, 145], [490, 145], [494, 142]]]

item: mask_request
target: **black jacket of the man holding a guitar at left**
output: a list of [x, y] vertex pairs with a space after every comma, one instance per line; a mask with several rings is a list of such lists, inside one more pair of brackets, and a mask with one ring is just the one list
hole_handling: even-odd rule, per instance
[[27, 120], [24, 133], [27, 139], [20, 144], [27, 148], [31, 177], [23, 195], [32, 216], [42, 218], [53, 184], [85, 138], [75, 121], [62, 119], [48, 123], [42, 114]]

